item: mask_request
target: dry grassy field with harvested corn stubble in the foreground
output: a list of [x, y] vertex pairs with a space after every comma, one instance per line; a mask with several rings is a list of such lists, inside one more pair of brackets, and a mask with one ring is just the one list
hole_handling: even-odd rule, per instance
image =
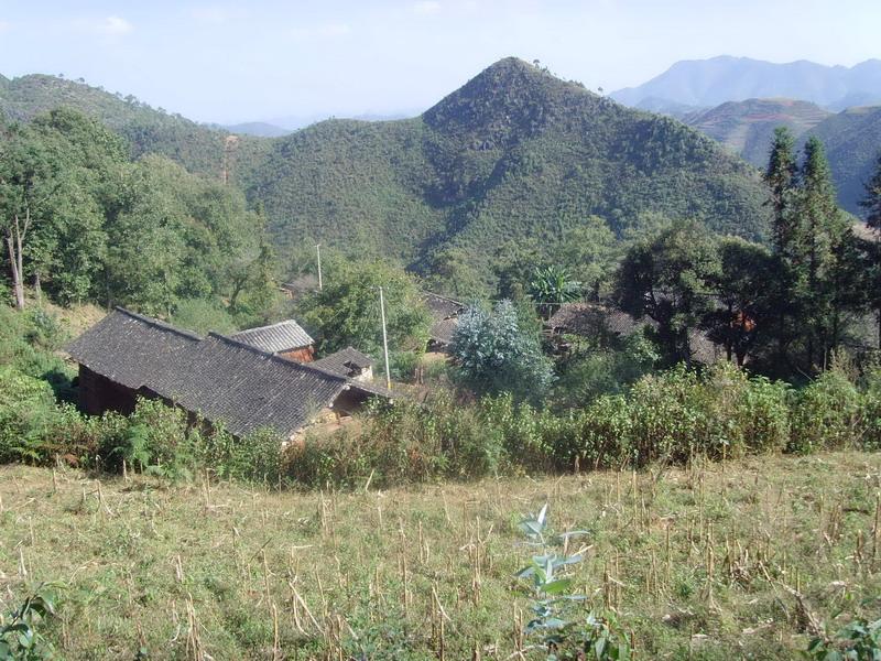
[[637, 658], [794, 658], [881, 611], [877, 454], [385, 492], [197, 481], [0, 468], [0, 610], [61, 582], [44, 631], [66, 659], [516, 659], [516, 523], [548, 501], [589, 531], [577, 585]]

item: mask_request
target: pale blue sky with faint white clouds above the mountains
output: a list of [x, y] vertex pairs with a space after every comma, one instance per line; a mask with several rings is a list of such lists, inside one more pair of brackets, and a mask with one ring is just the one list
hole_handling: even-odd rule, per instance
[[679, 59], [851, 66], [881, 0], [0, 0], [0, 74], [63, 74], [205, 122], [416, 115], [493, 62], [611, 91]]

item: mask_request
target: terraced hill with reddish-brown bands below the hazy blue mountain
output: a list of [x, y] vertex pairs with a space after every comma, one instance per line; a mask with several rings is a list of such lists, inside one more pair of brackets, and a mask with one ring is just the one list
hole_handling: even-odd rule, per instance
[[764, 167], [775, 128], [785, 126], [793, 134], [801, 136], [831, 115], [808, 101], [747, 99], [690, 112], [683, 121], [721, 142], [753, 165]]

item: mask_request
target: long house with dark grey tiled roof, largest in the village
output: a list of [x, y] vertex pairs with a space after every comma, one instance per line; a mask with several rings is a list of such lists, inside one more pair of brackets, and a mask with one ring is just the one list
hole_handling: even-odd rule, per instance
[[130, 413], [157, 398], [222, 424], [235, 436], [271, 429], [298, 437], [317, 421], [357, 411], [384, 388], [264, 351], [232, 337], [200, 337], [117, 307], [67, 346], [79, 364], [79, 405]]

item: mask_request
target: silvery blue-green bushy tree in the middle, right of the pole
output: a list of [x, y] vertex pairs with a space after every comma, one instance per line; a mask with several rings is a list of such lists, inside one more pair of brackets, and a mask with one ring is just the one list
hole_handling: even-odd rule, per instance
[[539, 401], [553, 381], [537, 335], [526, 329], [508, 300], [492, 311], [471, 306], [459, 315], [450, 353], [465, 383], [478, 392]]

